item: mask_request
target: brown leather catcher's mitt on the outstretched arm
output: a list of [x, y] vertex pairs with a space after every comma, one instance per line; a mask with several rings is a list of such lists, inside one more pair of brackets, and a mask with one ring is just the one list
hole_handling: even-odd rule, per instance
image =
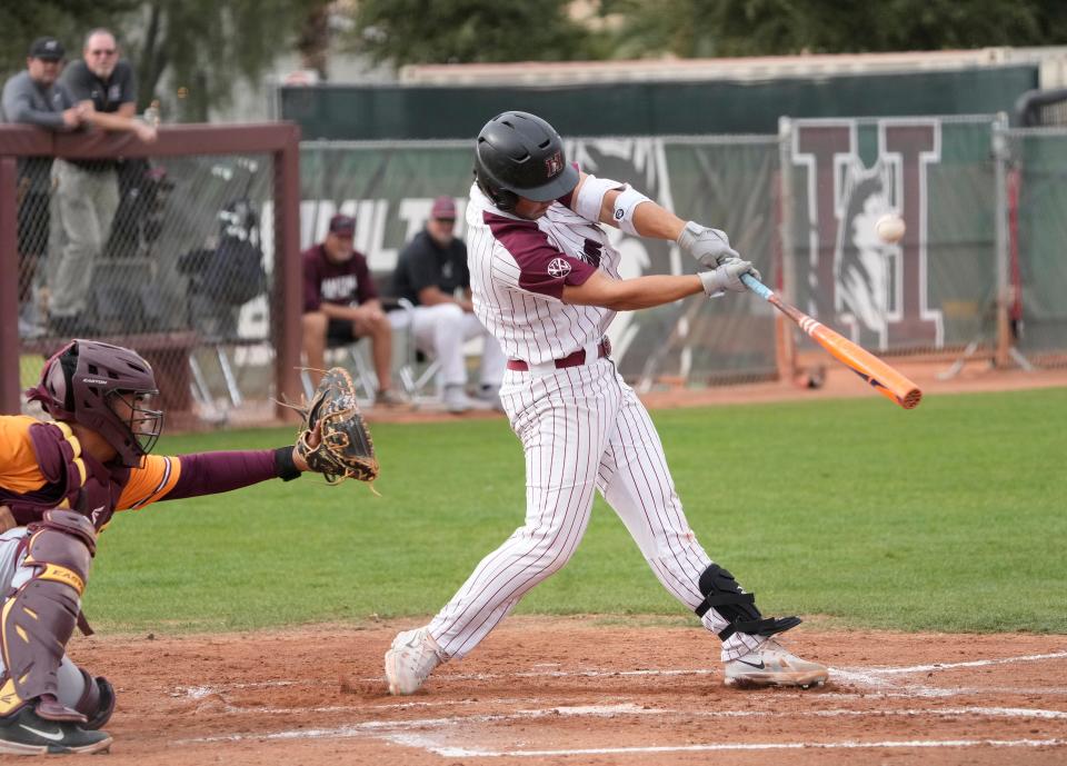
[[[356, 386], [348, 370], [341, 367], [328, 370], [311, 401], [299, 411], [303, 415], [303, 425], [297, 437], [297, 452], [309, 469], [322, 474], [327, 484], [378, 478], [375, 444], [356, 404]], [[320, 439], [312, 447], [317, 428]]]

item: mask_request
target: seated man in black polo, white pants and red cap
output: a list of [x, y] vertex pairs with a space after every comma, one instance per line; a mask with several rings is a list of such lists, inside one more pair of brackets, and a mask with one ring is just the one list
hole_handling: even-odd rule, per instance
[[465, 391], [463, 344], [485, 338], [479, 398], [496, 402], [507, 360], [496, 339], [473, 315], [467, 246], [453, 236], [456, 202], [438, 197], [426, 228], [408, 242], [397, 261], [393, 290], [415, 305], [411, 331], [416, 346], [440, 361], [445, 406], [451, 412], [471, 407]]

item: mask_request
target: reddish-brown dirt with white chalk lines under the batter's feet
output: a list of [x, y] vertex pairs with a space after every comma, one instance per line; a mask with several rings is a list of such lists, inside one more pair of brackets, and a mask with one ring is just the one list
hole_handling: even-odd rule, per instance
[[831, 666], [807, 692], [722, 686], [702, 629], [512, 617], [425, 690], [389, 697], [410, 623], [78, 638], [119, 705], [108, 763], [1061, 764], [1067, 637], [789, 635]]

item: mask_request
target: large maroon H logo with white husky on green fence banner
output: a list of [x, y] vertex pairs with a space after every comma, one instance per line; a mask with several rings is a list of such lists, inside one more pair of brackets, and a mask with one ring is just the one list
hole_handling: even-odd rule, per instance
[[[861, 132], [871, 139], [866, 157]], [[796, 242], [807, 314], [864, 346], [944, 344], [941, 312], [928, 305], [925, 215], [927, 169], [940, 151], [937, 120], [794, 122], [792, 162], [805, 169], [808, 190], [797, 218], [814, 225]], [[875, 233], [889, 211], [908, 223], [905, 239], [891, 245]]]

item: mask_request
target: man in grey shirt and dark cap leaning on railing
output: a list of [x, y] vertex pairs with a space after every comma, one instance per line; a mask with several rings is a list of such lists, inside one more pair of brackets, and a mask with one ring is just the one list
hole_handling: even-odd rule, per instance
[[[81, 125], [83, 109], [58, 82], [63, 68], [63, 46], [53, 37], [30, 44], [26, 69], [3, 84], [0, 122], [34, 125], [68, 131]], [[48, 252], [51, 157], [19, 158], [19, 336], [34, 337], [37, 325], [33, 281], [37, 265]]]

